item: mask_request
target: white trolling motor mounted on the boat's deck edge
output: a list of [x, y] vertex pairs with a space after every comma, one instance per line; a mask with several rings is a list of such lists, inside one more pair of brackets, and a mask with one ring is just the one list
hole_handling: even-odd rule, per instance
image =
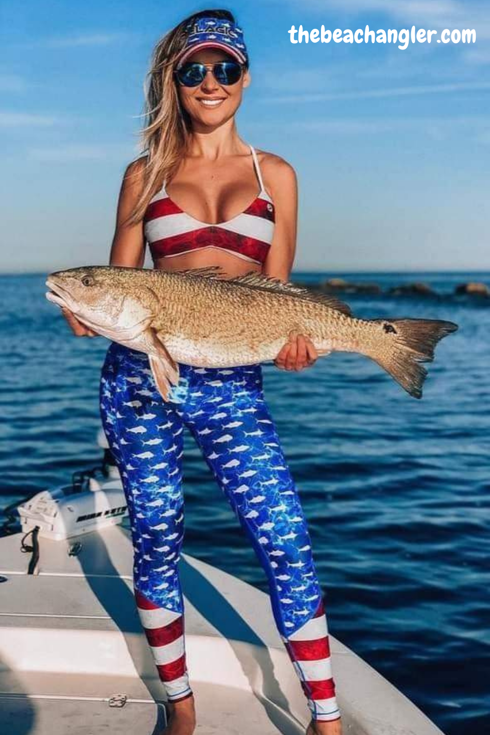
[[[43, 490], [17, 506], [22, 530], [47, 539], [82, 536], [122, 523], [127, 513], [126, 497], [114, 456], [104, 431], [97, 437], [104, 449], [101, 465], [73, 473], [70, 485]], [[10, 507], [5, 509], [5, 514]]]

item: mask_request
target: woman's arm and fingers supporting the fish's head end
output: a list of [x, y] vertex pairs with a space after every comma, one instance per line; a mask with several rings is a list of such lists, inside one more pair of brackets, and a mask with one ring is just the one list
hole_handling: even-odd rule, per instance
[[[115, 233], [112, 238], [109, 265], [123, 265], [129, 268], [143, 268], [145, 262], [145, 238], [143, 222], [126, 224], [143, 186], [145, 158], [129, 164], [124, 172], [120, 187]], [[76, 337], [98, 337], [96, 331], [84, 326], [69, 309], [62, 307], [62, 314], [71, 326]]]

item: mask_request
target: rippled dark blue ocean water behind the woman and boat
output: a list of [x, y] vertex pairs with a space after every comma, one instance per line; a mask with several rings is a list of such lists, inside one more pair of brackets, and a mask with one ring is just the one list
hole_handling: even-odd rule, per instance
[[[362, 318], [436, 318], [459, 330], [427, 363], [424, 398], [354, 354], [264, 392], [309, 520], [331, 633], [447, 735], [490, 732], [490, 299], [454, 297], [490, 273], [332, 275], [436, 297], [341, 295]], [[0, 276], [0, 509], [95, 465], [108, 342], [73, 337], [45, 274]], [[192, 437], [184, 445], [184, 552], [267, 591], [248, 539]]]

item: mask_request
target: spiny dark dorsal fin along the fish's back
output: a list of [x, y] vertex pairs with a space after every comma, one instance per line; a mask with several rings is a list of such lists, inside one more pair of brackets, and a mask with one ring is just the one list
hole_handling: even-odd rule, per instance
[[[202, 276], [207, 279], [220, 279], [217, 273], [222, 272], [219, 265], [209, 265], [206, 268], [190, 268], [187, 270], [174, 271], [174, 273], [182, 273], [186, 276]], [[250, 270], [243, 276], [235, 276], [231, 279], [224, 279], [226, 283], [233, 284], [235, 286], [242, 286], [248, 288], [256, 288], [262, 291], [270, 291], [271, 293], [285, 293], [289, 296], [295, 296], [296, 298], [303, 298], [305, 301], [314, 301], [317, 304], [323, 304], [328, 306], [330, 309], [336, 309], [342, 314], [351, 316], [352, 312], [350, 306], [344, 304], [335, 296], [328, 295], [326, 293], [317, 293], [311, 291], [303, 286], [297, 286], [291, 281], [281, 281], [281, 279], [274, 278], [273, 276], [265, 276], [264, 273], [259, 273], [256, 270]]]

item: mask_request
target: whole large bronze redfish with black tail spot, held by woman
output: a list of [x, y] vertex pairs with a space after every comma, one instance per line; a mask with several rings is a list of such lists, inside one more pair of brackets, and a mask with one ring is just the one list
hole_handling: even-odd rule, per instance
[[319, 354], [359, 352], [422, 398], [436, 343], [458, 326], [438, 319], [358, 319], [347, 304], [253, 271], [223, 278], [219, 266], [169, 272], [87, 266], [48, 276], [49, 301], [98, 334], [148, 354], [162, 397], [178, 362], [232, 368], [273, 360], [291, 331]]

